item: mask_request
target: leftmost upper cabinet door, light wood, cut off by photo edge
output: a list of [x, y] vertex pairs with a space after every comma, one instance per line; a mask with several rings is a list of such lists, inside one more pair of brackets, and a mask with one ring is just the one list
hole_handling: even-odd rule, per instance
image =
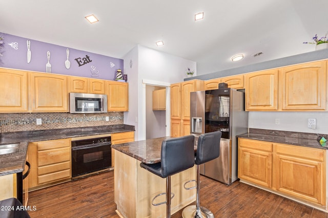
[[27, 72], [0, 68], [0, 112], [27, 112]]

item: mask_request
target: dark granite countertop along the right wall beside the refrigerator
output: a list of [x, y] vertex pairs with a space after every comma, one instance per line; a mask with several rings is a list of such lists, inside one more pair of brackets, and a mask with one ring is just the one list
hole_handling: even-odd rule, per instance
[[[327, 139], [327, 135], [321, 135]], [[316, 149], [328, 149], [328, 142], [317, 141], [318, 135], [315, 133], [301, 133], [278, 130], [250, 129], [249, 133], [237, 135], [239, 138], [249, 138], [261, 141], [271, 141], [276, 143], [291, 144]]]

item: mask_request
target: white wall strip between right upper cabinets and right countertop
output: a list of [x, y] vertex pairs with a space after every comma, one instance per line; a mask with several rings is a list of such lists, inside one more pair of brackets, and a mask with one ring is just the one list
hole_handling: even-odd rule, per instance
[[[279, 119], [279, 124], [276, 123]], [[308, 118], [316, 118], [316, 129], [308, 128]], [[327, 112], [249, 112], [249, 128], [328, 134]]]

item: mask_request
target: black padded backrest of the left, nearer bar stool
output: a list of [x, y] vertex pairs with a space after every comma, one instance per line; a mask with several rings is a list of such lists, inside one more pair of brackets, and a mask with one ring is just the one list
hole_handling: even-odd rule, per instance
[[195, 164], [193, 135], [169, 138], [162, 141], [161, 177], [166, 178], [185, 171]]

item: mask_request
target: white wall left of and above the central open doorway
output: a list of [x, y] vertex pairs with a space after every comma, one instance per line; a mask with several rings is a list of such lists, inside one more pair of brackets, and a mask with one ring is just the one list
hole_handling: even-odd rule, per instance
[[[124, 113], [124, 123], [135, 126], [135, 140], [143, 140], [146, 139], [146, 84], [142, 84], [142, 80], [169, 84], [182, 82], [188, 67], [196, 69], [196, 62], [141, 45], [134, 47], [123, 59], [129, 82], [129, 112]], [[133, 62], [131, 68], [130, 60]], [[194, 75], [197, 75], [196, 71]]]

